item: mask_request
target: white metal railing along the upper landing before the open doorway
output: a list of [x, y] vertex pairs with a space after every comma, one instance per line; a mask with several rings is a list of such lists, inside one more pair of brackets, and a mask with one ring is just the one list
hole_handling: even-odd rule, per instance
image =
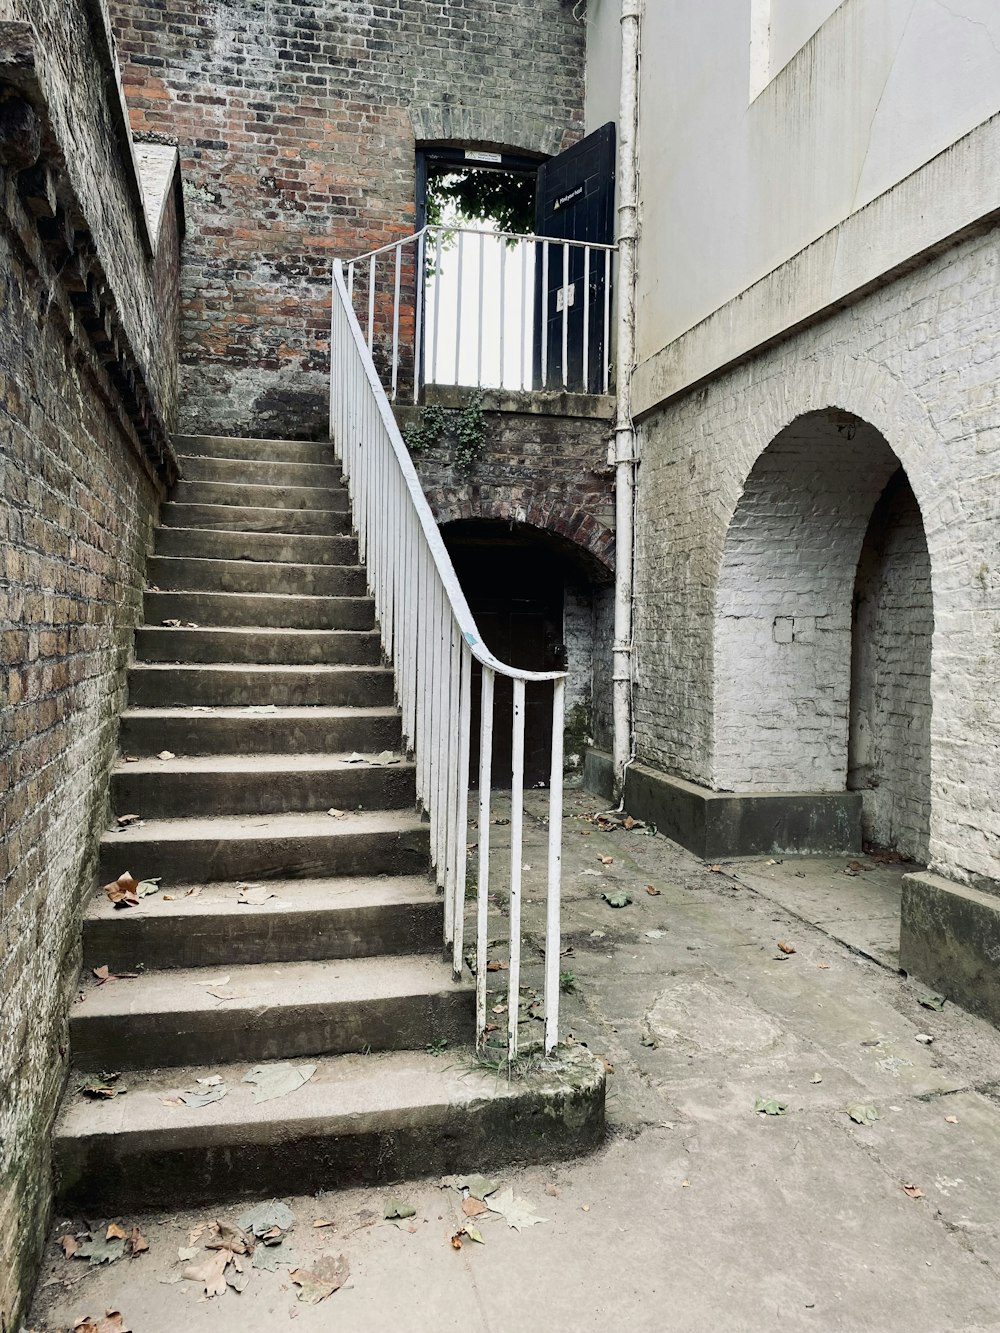
[[[377, 351], [385, 364], [393, 403], [407, 377], [415, 403], [421, 383], [588, 392], [592, 372], [607, 393], [616, 249], [552, 236], [424, 227], [352, 259], [347, 291], [367, 328], [368, 351]], [[452, 251], [453, 271], [445, 273]], [[571, 317], [577, 289], [579, 320]]]

